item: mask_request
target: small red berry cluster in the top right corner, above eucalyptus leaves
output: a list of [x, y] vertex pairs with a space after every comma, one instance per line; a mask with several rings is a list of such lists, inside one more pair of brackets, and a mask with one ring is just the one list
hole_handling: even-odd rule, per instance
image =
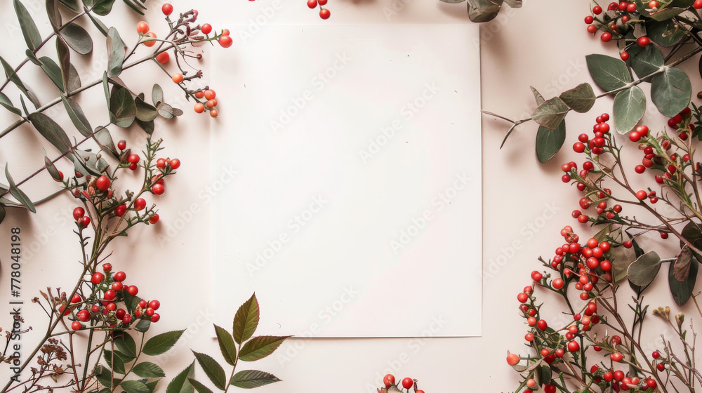
[[[658, 5], [656, 0], [649, 1], [647, 11], [657, 10]], [[651, 44], [651, 39], [647, 36], [632, 38], [628, 34], [637, 23], [642, 23], [641, 15], [637, 11], [635, 3], [630, 1], [611, 2], [607, 6], [607, 11], [607, 13], [604, 13], [600, 6], [592, 7], [592, 15], [585, 17], [585, 23], [588, 25], [588, 32], [591, 34], [602, 30], [600, 39], [604, 42], [609, 42], [612, 39], [623, 41], [624, 45], [621, 46], [620, 52], [622, 60], [628, 60], [629, 58], [629, 53], [625, 51], [628, 45], [634, 42], [639, 46]]]

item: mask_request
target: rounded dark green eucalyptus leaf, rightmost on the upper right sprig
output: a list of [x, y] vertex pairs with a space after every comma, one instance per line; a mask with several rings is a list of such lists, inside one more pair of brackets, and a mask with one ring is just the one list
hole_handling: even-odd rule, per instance
[[687, 72], [668, 68], [651, 80], [651, 101], [663, 116], [673, 117], [690, 103], [692, 86]]

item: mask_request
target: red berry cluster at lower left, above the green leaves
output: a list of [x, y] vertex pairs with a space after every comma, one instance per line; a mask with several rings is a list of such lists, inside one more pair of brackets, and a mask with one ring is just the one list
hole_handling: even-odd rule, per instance
[[[87, 279], [90, 284], [90, 293], [86, 298], [75, 293], [70, 304], [61, 302], [59, 314], [70, 315], [73, 319], [71, 328], [79, 331], [84, 328], [91, 329], [126, 329], [133, 322], [147, 320], [158, 322], [161, 316], [156, 310], [161, 307], [158, 300], [140, 300], [135, 298], [139, 288], [134, 285], [124, 284], [124, 272], [112, 272], [112, 265], [102, 265], [102, 272], [95, 272]], [[137, 303], [138, 301], [138, 303]]]

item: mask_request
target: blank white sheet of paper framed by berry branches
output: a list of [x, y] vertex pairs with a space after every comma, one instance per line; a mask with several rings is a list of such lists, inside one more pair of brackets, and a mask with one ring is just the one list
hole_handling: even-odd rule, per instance
[[481, 334], [477, 37], [267, 25], [212, 52], [217, 324], [255, 291], [257, 334]]

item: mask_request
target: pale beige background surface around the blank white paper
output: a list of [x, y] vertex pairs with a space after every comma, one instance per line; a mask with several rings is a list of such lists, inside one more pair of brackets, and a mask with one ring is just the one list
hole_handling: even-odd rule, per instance
[[[40, 9], [43, 1], [29, 3]], [[159, 1], [150, 3], [152, 6], [161, 4]], [[232, 18], [246, 22], [261, 15], [268, 3], [266, 0], [246, 4], [250, 8], [242, 14], [234, 13], [231, 8], [234, 2], [207, 2], [201, 6], [201, 18], [220, 21]], [[395, 0], [394, 3], [399, 15], [404, 15], [409, 21], [421, 22], [427, 15], [433, 15], [443, 16], [451, 22], [466, 22], [465, 4], [447, 6], [435, 0]], [[525, 3], [521, 10], [510, 11], [482, 27], [482, 105], [486, 110], [512, 118], [527, 116], [534, 109], [530, 84], [547, 98], [556, 95], [564, 88], [590, 80], [585, 68], [585, 54], [612, 50], [611, 46], [604, 49], [598, 39], [585, 33], [582, 18], [587, 14], [587, 1]], [[392, 1], [331, 0], [332, 18], [329, 22], [352, 22], [362, 18], [369, 18], [369, 22], [383, 21], [385, 15], [376, 11], [377, 7], [382, 9], [385, 6], [392, 6]], [[121, 1], [117, 1], [115, 7], [127, 15], [120, 20], [120, 25], [128, 26], [124, 31], [133, 31], [131, 26], [137, 19], [124, 11]], [[12, 15], [10, 1], [0, 4], [0, 14]], [[43, 18], [43, 11], [40, 15]], [[155, 20], [156, 15], [156, 11], [150, 11], [150, 20]], [[274, 18], [279, 22], [318, 20], [314, 11], [307, 9], [301, 0], [284, 3], [284, 8]], [[152, 25], [157, 23], [152, 22]], [[46, 31], [46, 25], [40, 29]], [[16, 52], [23, 48], [20, 35], [12, 32], [11, 24], [0, 25], [0, 36], [5, 42], [14, 40], [11, 45], [0, 49], [0, 55], [6, 56], [11, 50]], [[102, 50], [102, 46], [99, 47]], [[10, 61], [11, 56], [7, 57]], [[17, 58], [12, 60], [18, 61]], [[134, 81], [139, 78], [147, 76], [130, 76]], [[167, 81], [163, 84], [167, 85]], [[213, 86], [216, 86], [216, 81], [213, 81]], [[227, 94], [236, 94], [219, 93], [218, 98], [223, 100]], [[174, 95], [175, 91], [166, 94]], [[609, 105], [608, 102], [598, 102], [591, 114], [570, 116], [571, 131], [566, 146], [572, 144], [577, 135], [575, 130], [590, 128], [595, 113], [601, 113]], [[131, 274], [129, 282], [140, 285], [143, 293], [157, 294], [161, 299], [162, 319], [154, 326], [154, 331], [188, 328], [173, 356], [161, 359], [168, 380], [192, 361], [188, 348], [218, 355], [218, 349], [210, 339], [210, 319], [218, 310], [208, 309], [206, 299], [208, 218], [204, 212], [208, 202], [199, 196], [208, 187], [208, 176], [204, 175], [209, 171], [205, 153], [208, 137], [204, 131], [208, 119], [194, 116], [189, 105], [183, 107], [186, 115], [177, 121], [177, 127], [167, 126], [157, 131], [159, 137], [166, 139], [167, 154], [178, 156], [183, 161], [178, 177], [169, 183], [168, 192], [160, 199], [160, 228], [137, 229], [135, 235], [138, 236], [122, 239], [112, 257], [112, 264], [121, 266], [128, 276], [130, 272], [139, 272], [138, 277]], [[558, 236], [559, 229], [574, 222], [569, 212], [576, 206], [576, 193], [559, 179], [560, 164], [574, 159], [574, 154], [564, 149], [552, 163], [539, 165], [534, 155], [536, 128], [533, 125], [520, 128], [500, 150], [507, 126], [489, 116], [483, 120], [484, 335], [481, 338], [433, 340], [290, 340], [279, 350], [278, 356], [251, 365], [285, 380], [260, 388], [260, 392], [371, 392], [369, 387], [380, 386], [382, 375], [388, 371], [395, 373], [397, 378], [418, 378], [421, 387], [429, 393], [456, 392], [466, 388], [480, 392], [506, 392], [517, 385], [515, 373], [505, 364], [507, 349], [524, 351], [524, 325], [517, 317], [515, 296], [529, 283], [529, 272], [537, 267], [536, 257], [548, 257], [548, 253], [562, 241]], [[127, 135], [118, 131], [117, 135], [120, 134]], [[136, 143], [140, 136], [133, 133], [128, 138]], [[15, 141], [21, 142], [20, 138]], [[15, 154], [16, 159], [20, 153], [9, 151], [6, 141], [3, 141], [0, 154], [3, 158]], [[32, 156], [37, 156], [37, 152]], [[22, 171], [29, 173], [30, 167], [33, 166], [15, 168], [16, 176], [19, 177]], [[33, 195], [41, 194], [34, 189], [30, 191]], [[7, 255], [4, 239], [8, 239], [11, 223], [31, 232], [30, 241], [37, 245], [36, 256], [23, 268], [27, 280], [23, 293], [25, 301], [33, 296], [30, 289], [37, 291], [47, 285], [68, 286], [73, 282], [72, 275], [65, 269], [76, 269], [79, 248], [70, 232], [71, 227], [56, 215], [60, 211], [69, 212], [72, 206], [73, 202], [67, 197], [56, 199], [41, 206], [37, 215], [12, 215], [0, 227], [0, 258], [3, 262], [6, 259], [1, 255]], [[193, 208], [201, 209], [202, 213], [189, 213]], [[173, 236], [168, 237], [169, 226], [175, 227], [179, 216], [187, 225], [171, 231]], [[49, 231], [50, 228], [55, 229], [55, 234]], [[46, 239], [41, 237], [42, 233], [48, 234]], [[156, 234], [164, 235], [168, 240], [159, 241], [159, 237], [154, 236]], [[5, 307], [8, 298], [6, 271], [4, 263], [1, 307]], [[660, 301], [670, 303], [669, 295], [665, 298], [665, 291], [662, 293]], [[27, 309], [37, 311], [37, 307]], [[263, 319], [272, 317], [267, 314], [265, 304], [262, 311]], [[39, 314], [27, 314], [27, 320], [37, 329], [25, 343], [40, 330], [43, 319], [39, 318]], [[8, 315], [3, 312], [0, 325], [6, 326], [7, 321]], [[428, 325], [427, 328], [428, 335], [431, 335], [430, 329], [435, 326]], [[198, 375], [206, 378], [201, 371]]]

